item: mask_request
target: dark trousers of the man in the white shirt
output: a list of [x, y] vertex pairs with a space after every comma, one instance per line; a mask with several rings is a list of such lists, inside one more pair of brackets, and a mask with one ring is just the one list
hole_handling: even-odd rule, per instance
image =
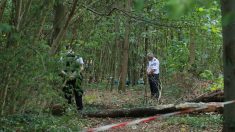
[[153, 97], [158, 98], [159, 88], [160, 88], [159, 74], [148, 75], [148, 80], [149, 80], [151, 95]]

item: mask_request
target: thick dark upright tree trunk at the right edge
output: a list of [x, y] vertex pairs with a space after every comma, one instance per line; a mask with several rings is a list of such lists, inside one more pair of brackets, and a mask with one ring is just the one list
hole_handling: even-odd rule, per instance
[[[235, 1], [221, 0], [224, 45], [224, 94], [225, 101], [235, 99]], [[235, 131], [235, 104], [224, 109], [224, 132]]]

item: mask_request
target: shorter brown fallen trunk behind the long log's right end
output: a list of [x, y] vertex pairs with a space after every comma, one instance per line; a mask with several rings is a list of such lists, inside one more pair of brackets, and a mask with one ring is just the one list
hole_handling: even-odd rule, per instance
[[208, 94], [203, 94], [187, 102], [223, 102], [223, 101], [224, 101], [224, 91], [217, 90]]

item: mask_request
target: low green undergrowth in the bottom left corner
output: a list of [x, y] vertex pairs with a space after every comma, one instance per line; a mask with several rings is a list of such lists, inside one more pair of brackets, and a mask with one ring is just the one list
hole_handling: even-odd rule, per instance
[[0, 131], [81, 131], [86, 120], [71, 112], [61, 117], [20, 114], [0, 118]]

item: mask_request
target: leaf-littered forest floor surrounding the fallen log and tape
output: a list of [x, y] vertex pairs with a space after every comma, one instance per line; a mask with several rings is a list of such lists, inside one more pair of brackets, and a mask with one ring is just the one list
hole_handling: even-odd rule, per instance
[[[182, 84], [182, 83], [180, 83]], [[159, 104], [182, 103], [205, 92], [208, 82], [195, 82], [185, 87], [179, 84], [163, 86], [160, 102], [150, 98], [148, 86], [127, 87], [126, 92], [112, 91], [106, 84], [89, 84], [84, 87], [84, 111], [118, 108], [157, 106]], [[147, 90], [147, 98], [146, 92]], [[88, 118], [77, 113], [75, 106], [66, 109], [63, 116], [44, 114], [23, 114], [0, 118], [0, 131], [78, 131], [113, 123], [132, 121], [139, 118]], [[222, 116], [215, 113], [172, 116], [140, 123], [133, 126], [109, 130], [110, 132], [218, 132], [222, 130]]]

